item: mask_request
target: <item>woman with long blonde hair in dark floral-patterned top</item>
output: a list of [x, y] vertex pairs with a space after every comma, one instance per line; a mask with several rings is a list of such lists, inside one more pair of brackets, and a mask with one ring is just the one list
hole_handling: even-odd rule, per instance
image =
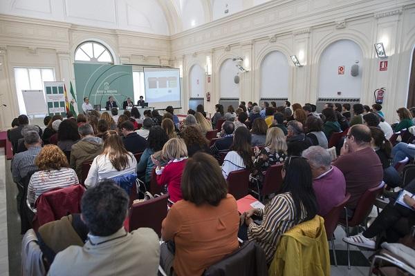
[[250, 177], [252, 184], [258, 184], [261, 188], [264, 181], [264, 173], [271, 165], [284, 162], [287, 154], [287, 144], [281, 128], [268, 128], [266, 132], [265, 146], [262, 150], [254, 149], [253, 172]]

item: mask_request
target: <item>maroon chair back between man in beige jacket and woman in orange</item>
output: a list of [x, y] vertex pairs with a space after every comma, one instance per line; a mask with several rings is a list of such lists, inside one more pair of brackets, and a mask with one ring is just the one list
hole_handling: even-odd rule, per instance
[[161, 237], [161, 223], [167, 216], [169, 194], [133, 204], [129, 208], [129, 232], [140, 227], [153, 229]]

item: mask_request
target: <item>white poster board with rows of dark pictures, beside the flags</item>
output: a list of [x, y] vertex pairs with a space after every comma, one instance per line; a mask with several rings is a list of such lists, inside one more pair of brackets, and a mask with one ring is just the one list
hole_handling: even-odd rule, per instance
[[46, 106], [48, 108], [48, 114], [53, 115], [66, 115], [66, 99], [64, 95], [64, 82], [63, 81], [44, 81]]

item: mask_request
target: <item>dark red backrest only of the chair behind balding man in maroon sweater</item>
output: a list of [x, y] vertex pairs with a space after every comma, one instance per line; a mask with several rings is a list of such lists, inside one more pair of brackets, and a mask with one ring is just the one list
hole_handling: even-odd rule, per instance
[[349, 220], [349, 227], [358, 226], [366, 219], [374, 206], [376, 197], [382, 193], [384, 187], [385, 182], [382, 181], [378, 186], [368, 189], [362, 197], [360, 197], [358, 205], [353, 213], [353, 217]]

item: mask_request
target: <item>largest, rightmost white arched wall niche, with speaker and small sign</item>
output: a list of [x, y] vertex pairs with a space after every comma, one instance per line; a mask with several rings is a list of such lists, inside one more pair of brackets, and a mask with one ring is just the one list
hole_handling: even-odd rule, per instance
[[[328, 46], [320, 58], [319, 91], [323, 98], [360, 98], [362, 95], [362, 50], [351, 40], [342, 39]], [[359, 75], [351, 76], [351, 66], [358, 61]], [[344, 75], [338, 67], [344, 66]], [[341, 92], [341, 95], [338, 95]]]

